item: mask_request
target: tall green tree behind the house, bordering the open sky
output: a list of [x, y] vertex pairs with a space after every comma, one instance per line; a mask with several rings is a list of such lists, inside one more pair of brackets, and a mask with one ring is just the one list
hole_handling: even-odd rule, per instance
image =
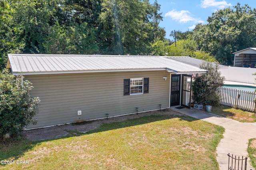
[[100, 47], [103, 53], [148, 54], [150, 43], [164, 39], [165, 31], [158, 26], [162, 20], [156, 2], [149, 0], [104, 0], [100, 14]]

